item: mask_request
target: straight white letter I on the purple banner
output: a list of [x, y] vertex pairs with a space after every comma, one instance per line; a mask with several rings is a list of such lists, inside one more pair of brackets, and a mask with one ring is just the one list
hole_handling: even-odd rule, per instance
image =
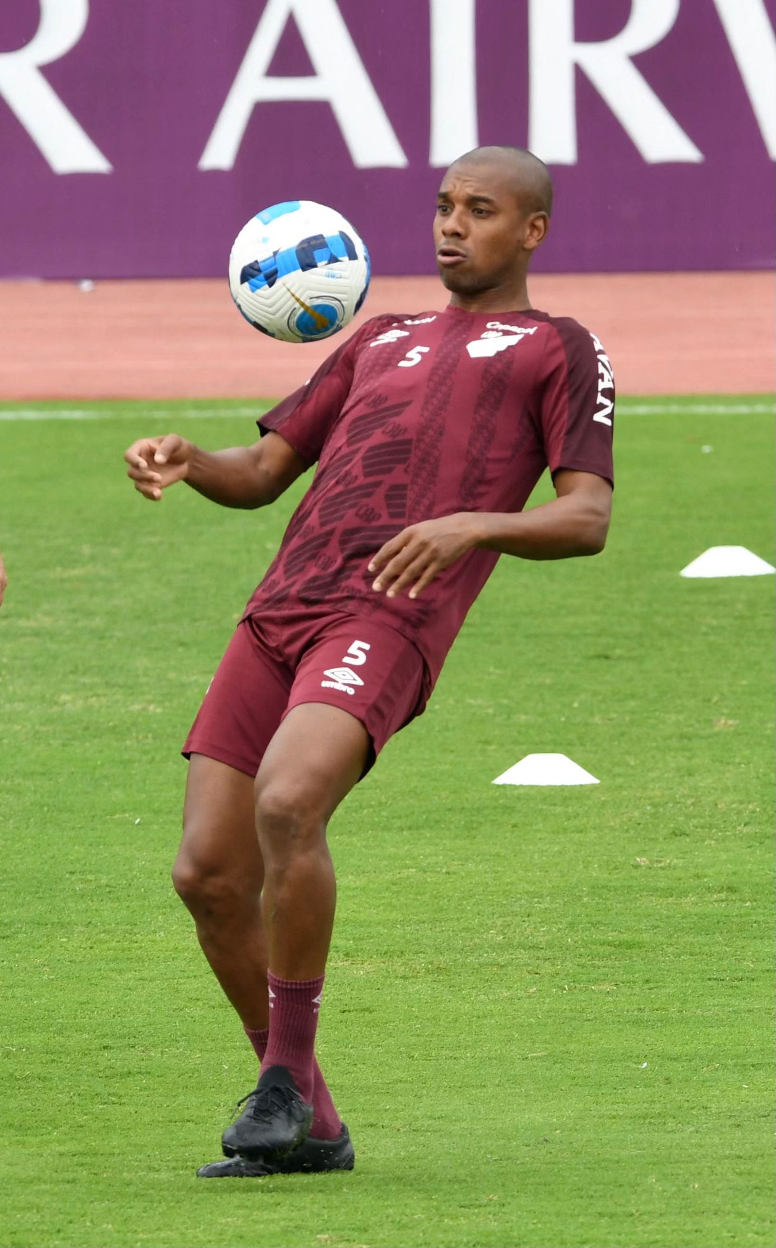
[[432, 144], [429, 165], [445, 167], [479, 144], [477, 0], [432, 0]]

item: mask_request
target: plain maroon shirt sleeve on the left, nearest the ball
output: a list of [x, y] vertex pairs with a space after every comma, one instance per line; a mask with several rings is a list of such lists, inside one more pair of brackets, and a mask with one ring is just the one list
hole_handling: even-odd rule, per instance
[[364, 328], [333, 351], [304, 386], [259, 417], [259, 433], [273, 429], [307, 464], [316, 463], [351, 392]]

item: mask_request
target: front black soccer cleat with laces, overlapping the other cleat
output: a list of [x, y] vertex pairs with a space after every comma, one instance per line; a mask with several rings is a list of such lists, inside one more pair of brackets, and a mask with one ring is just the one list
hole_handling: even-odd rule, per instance
[[313, 1107], [302, 1099], [284, 1066], [266, 1070], [243, 1102], [245, 1109], [221, 1137], [227, 1157], [277, 1164], [307, 1139]]

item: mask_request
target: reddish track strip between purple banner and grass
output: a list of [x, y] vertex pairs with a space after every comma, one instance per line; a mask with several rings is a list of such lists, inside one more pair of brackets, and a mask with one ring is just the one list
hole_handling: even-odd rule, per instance
[[[771, 273], [548, 275], [531, 280], [530, 296], [595, 331], [620, 394], [774, 389]], [[354, 324], [444, 302], [435, 277], [378, 277]], [[221, 281], [100, 282], [90, 292], [0, 283], [5, 401], [274, 397], [309, 377], [333, 344], [256, 333]]]

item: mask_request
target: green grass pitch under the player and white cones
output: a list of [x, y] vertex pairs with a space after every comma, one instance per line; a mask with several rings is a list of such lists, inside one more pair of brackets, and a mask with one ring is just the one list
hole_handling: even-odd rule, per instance
[[[774, 1242], [774, 578], [679, 577], [772, 559], [769, 406], [624, 402], [605, 553], [502, 559], [331, 830], [357, 1168], [210, 1183], [256, 1066], [170, 885], [177, 751], [303, 483], [133, 493], [130, 441], [245, 403], [0, 409], [2, 1246]], [[601, 782], [492, 786], [531, 751]]]

